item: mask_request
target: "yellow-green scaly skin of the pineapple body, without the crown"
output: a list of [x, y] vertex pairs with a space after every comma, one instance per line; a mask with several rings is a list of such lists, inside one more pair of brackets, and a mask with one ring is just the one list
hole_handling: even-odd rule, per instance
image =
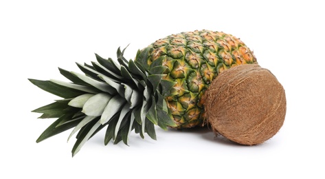
[[148, 65], [164, 58], [164, 79], [177, 82], [166, 103], [178, 129], [204, 125], [202, 96], [218, 74], [235, 65], [257, 63], [240, 39], [210, 30], [172, 34], [149, 47]]

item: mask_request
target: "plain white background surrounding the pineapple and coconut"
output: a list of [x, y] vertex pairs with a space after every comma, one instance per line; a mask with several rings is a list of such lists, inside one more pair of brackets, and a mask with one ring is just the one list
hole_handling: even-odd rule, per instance
[[[0, 178], [325, 178], [324, 5], [322, 1], [0, 1]], [[240, 37], [287, 94], [278, 134], [244, 147], [211, 131], [134, 133], [130, 146], [104, 146], [104, 131], [71, 158], [69, 131], [36, 144], [54, 119], [30, 111], [58, 97], [27, 78], [65, 80], [57, 67], [94, 53], [125, 56], [192, 30]]]

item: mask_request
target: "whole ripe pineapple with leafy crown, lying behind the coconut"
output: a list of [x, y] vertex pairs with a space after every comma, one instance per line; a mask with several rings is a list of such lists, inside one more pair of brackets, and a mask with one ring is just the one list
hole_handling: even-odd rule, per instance
[[[125, 50], [125, 49], [124, 49]], [[156, 139], [155, 125], [184, 129], [204, 125], [205, 90], [234, 65], [257, 63], [236, 37], [208, 30], [182, 32], [159, 39], [135, 60], [117, 50], [117, 61], [96, 54], [91, 65], [77, 63], [84, 74], [59, 68], [71, 83], [29, 79], [62, 99], [34, 109], [40, 118], [57, 118], [36, 140], [74, 128], [74, 156], [89, 138], [106, 127], [104, 144], [128, 144], [131, 131]], [[69, 140], [68, 138], [68, 140]]]

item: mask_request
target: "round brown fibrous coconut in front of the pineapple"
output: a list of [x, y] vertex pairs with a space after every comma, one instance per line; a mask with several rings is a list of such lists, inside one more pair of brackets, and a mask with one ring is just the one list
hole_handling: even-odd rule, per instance
[[238, 65], [219, 74], [205, 93], [205, 114], [216, 134], [242, 145], [274, 136], [286, 114], [284, 88], [260, 65]]

